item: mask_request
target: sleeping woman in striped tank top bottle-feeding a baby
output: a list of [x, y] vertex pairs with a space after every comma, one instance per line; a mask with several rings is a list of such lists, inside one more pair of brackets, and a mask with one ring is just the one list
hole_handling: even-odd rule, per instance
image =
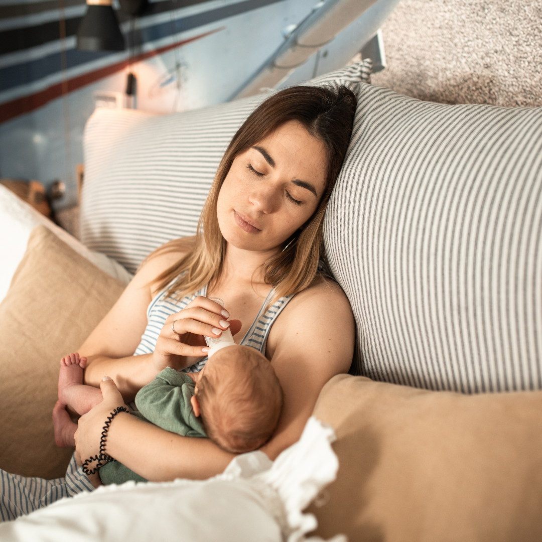
[[[237, 343], [266, 355], [284, 392], [279, 427], [262, 450], [275, 459], [299, 439], [322, 386], [352, 360], [350, 305], [320, 260], [324, 212], [355, 108], [345, 87], [293, 87], [256, 108], [237, 131], [196, 237], [147, 258], [80, 349], [88, 359], [85, 383], [101, 385], [104, 395], [79, 420], [83, 459], [99, 453], [114, 408], [166, 366], [201, 370], [204, 335], [228, 327]], [[111, 423], [106, 453], [151, 481], [209, 478], [233, 458], [208, 439], [181, 437], [124, 412]]]

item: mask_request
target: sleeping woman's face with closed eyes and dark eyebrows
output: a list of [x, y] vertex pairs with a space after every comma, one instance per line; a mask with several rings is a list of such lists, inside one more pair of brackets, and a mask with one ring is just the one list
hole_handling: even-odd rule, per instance
[[218, 195], [225, 240], [244, 250], [281, 247], [317, 209], [326, 160], [324, 144], [297, 121], [237, 156]]

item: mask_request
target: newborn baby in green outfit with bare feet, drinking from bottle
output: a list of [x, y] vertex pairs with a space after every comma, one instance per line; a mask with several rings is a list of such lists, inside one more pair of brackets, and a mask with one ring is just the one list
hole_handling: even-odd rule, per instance
[[[59, 401], [53, 410], [57, 446], [75, 446], [77, 424], [66, 405], [86, 414], [102, 401], [101, 391], [83, 385], [87, 359], [74, 353], [62, 358]], [[179, 373], [170, 367], [139, 390], [133, 415], [182, 436], [208, 436], [233, 453], [260, 448], [273, 434], [282, 410], [282, 388], [273, 367], [249, 346], [228, 346], [209, 358], [198, 373]], [[85, 458], [83, 458], [84, 460]], [[99, 470], [103, 483], [143, 481], [121, 463]], [[95, 487], [100, 485], [96, 478]]]

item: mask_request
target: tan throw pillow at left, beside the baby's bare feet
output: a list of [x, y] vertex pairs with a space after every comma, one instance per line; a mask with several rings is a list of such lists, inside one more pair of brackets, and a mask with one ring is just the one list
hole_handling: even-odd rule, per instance
[[124, 285], [43, 225], [0, 304], [0, 468], [57, 478], [73, 449], [57, 448], [51, 412], [60, 358], [75, 352]]

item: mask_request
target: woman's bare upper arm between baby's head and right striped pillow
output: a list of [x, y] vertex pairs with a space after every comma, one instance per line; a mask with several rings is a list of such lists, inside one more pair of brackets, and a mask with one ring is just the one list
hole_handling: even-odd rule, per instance
[[299, 440], [324, 384], [349, 370], [354, 318], [344, 292], [321, 281], [296, 295], [269, 332], [266, 356], [284, 392], [274, 437], [263, 448], [274, 460]]

